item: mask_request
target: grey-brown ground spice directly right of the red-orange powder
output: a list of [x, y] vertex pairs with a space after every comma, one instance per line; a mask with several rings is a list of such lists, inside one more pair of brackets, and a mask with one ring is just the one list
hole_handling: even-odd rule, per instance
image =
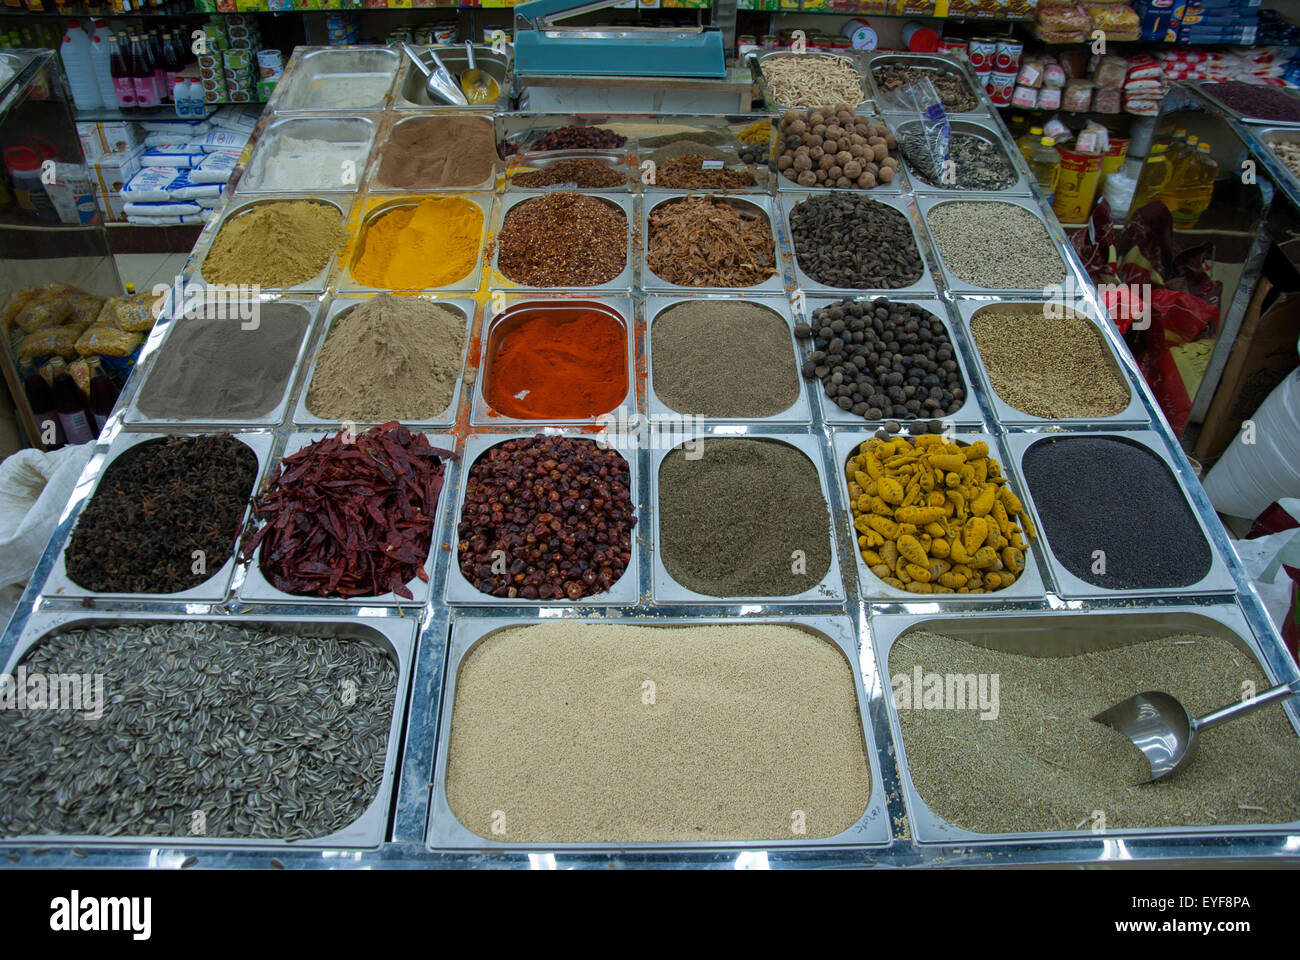
[[[686, 300], [650, 329], [654, 392], [693, 416], [775, 416], [800, 395], [790, 328], [738, 300]], [[736, 376], [736, 371], [745, 371]]]

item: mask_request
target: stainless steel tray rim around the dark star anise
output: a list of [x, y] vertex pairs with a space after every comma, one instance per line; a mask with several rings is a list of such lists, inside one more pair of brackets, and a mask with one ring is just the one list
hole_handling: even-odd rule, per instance
[[[90, 501], [95, 498], [95, 492], [99, 489], [99, 484], [104, 479], [104, 473], [112, 466], [113, 460], [116, 460], [118, 457], [127, 453], [133, 447], [139, 446], [140, 444], [148, 442], [151, 440], [164, 440], [166, 437], [174, 437], [174, 436], [181, 436], [181, 434], [126, 433], [126, 432], [117, 433], [108, 451], [100, 455], [100, 459], [96, 464], [92, 476], [77, 485], [77, 490], [74, 490], [73, 498], [69, 501], [69, 506], [77, 511], [78, 522], [81, 520], [81, 516], [86, 510], [86, 506], [90, 503]], [[194, 434], [186, 434], [186, 436], [194, 436]], [[261, 479], [266, 475], [266, 471], [270, 466], [270, 449], [272, 445], [276, 442], [276, 436], [270, 431], [233, 433], [233, 436], [235, 440], [238, 440], [250, 450], [252, 450], [254, 455], [257, 458], [257, 471], [254, 475], [252, 487], [248, 489], [248, 493], [252, 494], [254, 490], [257, 489], [257, 485], [261, 483]], [[84, 493], [84, 496], [79, 496], [81, 493]], [[248, 523], [248, 509], [244, 507], [244, 511], [239, 515], [239, 528], [237, 531], [237, 539], [238, 539], [238, 532], [242, 531], [247, 523]], [[73, 532], [75, 532], [75, 529], [77, 528], [74, 526]], [[46, 580], [44, 585], [42, 587], [42, 593], [44, 593], [47, 597], [69, 597], [69, 598], [96, 597], [103, 600], [135, 600], [142, 602], [148, 602], [152, 600], [177, 600], [186, 602], [194, 601], [194, 602], [214, 604], [225, 600], [226, 588], [230, 584], [230, 575], [234, 572], [235, 568], [237, 548], [234, 542], [231, 542], [230, 553], [225, 558], [221, 558], [222, 561], [221, 566], [213, 570], [212, 575], [196, 587], [191, 587], [190, 589], [186, 591], [176, 591], [174, 593], [105, 593], [101, 591], [86, 589], [68, 575], [66, 552], [70, 542], [72, 542], [72, 533], [69, 533], [69, 540], [64, 544], [64, 549], [58, 552], [58, 557], [55, 561], [55, 567], [53, 570], [49, 571], [49, 576]], [[177, 546], [182, 545], [177, 544]], [[183, 555], [179, 557], [178, 565], [182, 567], [192, 568], [192, 565], [196, 562], [196, 559], [198, 558], [191, 557], [188, 552], [185, 552]], [[217, 559], [218, 559], [217, 557], [211, 557], [211, 558], [205, 557], [203, 558], [204, 566], [208, 566], [209, 562]]]

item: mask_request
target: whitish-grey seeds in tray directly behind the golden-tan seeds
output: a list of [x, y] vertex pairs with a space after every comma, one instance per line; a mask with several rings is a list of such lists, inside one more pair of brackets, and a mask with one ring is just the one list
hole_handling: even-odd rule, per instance
[[967, 284], [1027, 290], [1065, 280], [1065, 263], [1043, 221], [1014, 203], [941, 203], [927, 222], [944, 265]]

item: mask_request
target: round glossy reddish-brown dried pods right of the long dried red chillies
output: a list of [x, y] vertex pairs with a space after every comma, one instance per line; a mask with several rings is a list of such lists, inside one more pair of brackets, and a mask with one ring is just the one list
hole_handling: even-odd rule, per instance
[[632, 562], [632, 470], [585, 437], [538, 434], [485, 450], [460, 511], [460, 572], [494, 597], [580, 600]]

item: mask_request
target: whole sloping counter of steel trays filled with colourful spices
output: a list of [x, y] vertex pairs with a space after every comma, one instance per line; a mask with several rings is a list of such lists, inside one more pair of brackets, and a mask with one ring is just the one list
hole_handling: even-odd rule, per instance
[[[348, 738], [346, 779], [320, 767], [308, 800], [286, 748], [260, 801], [195, 849], [244, 865], [251, 846], [274, 847], [292, 866], [318, 865], [321, 847], [364, 866], [538, 852], [597, 866], [629, 849], [676, 866], [755, 849], [807, 866], [1097, 862], [1114, 848], [1076, 826], [1091, 800], [1052, 787], [1057, 805], [1028, 816], [972, 784], [996, 773], [1009, 795], [1048, 788], [1022, 762], [1044, 710], [1063, 736], [1066, 718], [1086, 723], [1150, 683], [1212, 701], [1232, 652], [1258, 683], [1296, 674], [968, 65], [944, 66], [945, 90], [968, 87], [980, 114], [956, 127], [972, 138], [959, 176], [988, 186], [1009, 170], [1001, 190], [905, 174], [898, 134], [915, 118], [868, 99], [759, 121], [497, 113], [508, 165], [491, 163], [489, 180], [467, 138], [441, 168], [456, 185], [395, 195], [377, 173], [400, 125], [471, 130], [485, 116], [412, 112], [396, 91], [413, 68], [370, 69], [382, 59], [339, 62], [376, 77], [332, 113], [318, 91], [356, 91], [312, 56], [289, 65], [286, 78], [309, 79], [277, 94], [287, 111], [273, 103], [235, 161], [244, 180], [185, 276], [203, 295], [150, 337], [0, 643], [5, 669], [53, 669], [74, 637], [144, 675], [156, 667], [136, 662], [142, 636], [185, 663], [202, 644], [209, 670], [186, 696], [225, 696], [255, 753], [283, 725]], [[775, 170], [816, 112], [811, 135], [836, 142], [841, 173], [861, 163], [853, 147], [872, 163], [878, 147], [881, 163], [897, 152], [890, 191], [837, 174], [820, 190], [775, 177], [715, 195], [637, 176], [673, 143], [685, 152], [666, 163], [746, 150], [736, 167]], [[312, 125], [306, 140], [381, 144], [368, 176], [266, 190], [277, 153], [298, 156], [289, 118]], [[452, 225], [465, 228], [456, 250], [438, 247]], [[448, 264], [458, 278], [434, 282]], [[222, 388], [235, 379], [247, 389]], [[124, 487], [152, 463], [181, 479]], [[185, 487], [196, 472], [198, 498]], [[156, 535], [116, 558], [108, 548], [133, 535], [114, 518], [151, 483], [165, 488], [150, 500]], [[77, 606], [99, 597], [113, 606]], [[211, 665], [250, 645], [222, 687]], [[313, 688], [317, 649], [363, 678], [364, 710], [322, 715], [308, 696], [254, 717], [266, 670]], [[974, 689], [974, 712], [924, 710], [926, 673], [970, 657], [1050, 696]], [[611, 682], [633, 674], [625, 709]], [[672, 717], [641, 709], [645, 675]], [[563, 709], [526, 696], [555, 683]], [[758, 706], [737, 710], [754, 691]], [[994, 734], [974, 722], [980, 709], [1009, 722]], [[1243, 765], [1292, 769], [1300, 718], [1258, 717], [1228, 741], [1242, 765], [1201, 766], [1184, 797], [1114, 788], [1126, 857], [1294, 856], [1300, 793]], [[94, 741], [52, 761], [40, 723], [8, 721], [0, 741], [27, 744], [16, 757], [36, 751], [52, 783], [83, 777]], [[1080, 783], [1124, 758], [1104, 728], [1088, 736], [1097, 757]], [[238, 777], [233, 762], [221, 773]], [[1223, 797], [1243, 783], [1251, 810], [1236, 814]], [[151, 799], [110, 812], [81, 787], [73, 812], [44, 793], [10, 808], [0, 847], [21, 865], [39, 838], [57, 865], [75, 835], [82, 865], [135, 865], [156, 838], [191, 846]], [[191, 788], [176, 777], [160, 796]], [[490, 814], [500, 791], [516, 799], [504, 829]], [[816, 803], [792, 834], [796, 796]], [[1209, 825], [1201, 801], [1230, 813]]]

